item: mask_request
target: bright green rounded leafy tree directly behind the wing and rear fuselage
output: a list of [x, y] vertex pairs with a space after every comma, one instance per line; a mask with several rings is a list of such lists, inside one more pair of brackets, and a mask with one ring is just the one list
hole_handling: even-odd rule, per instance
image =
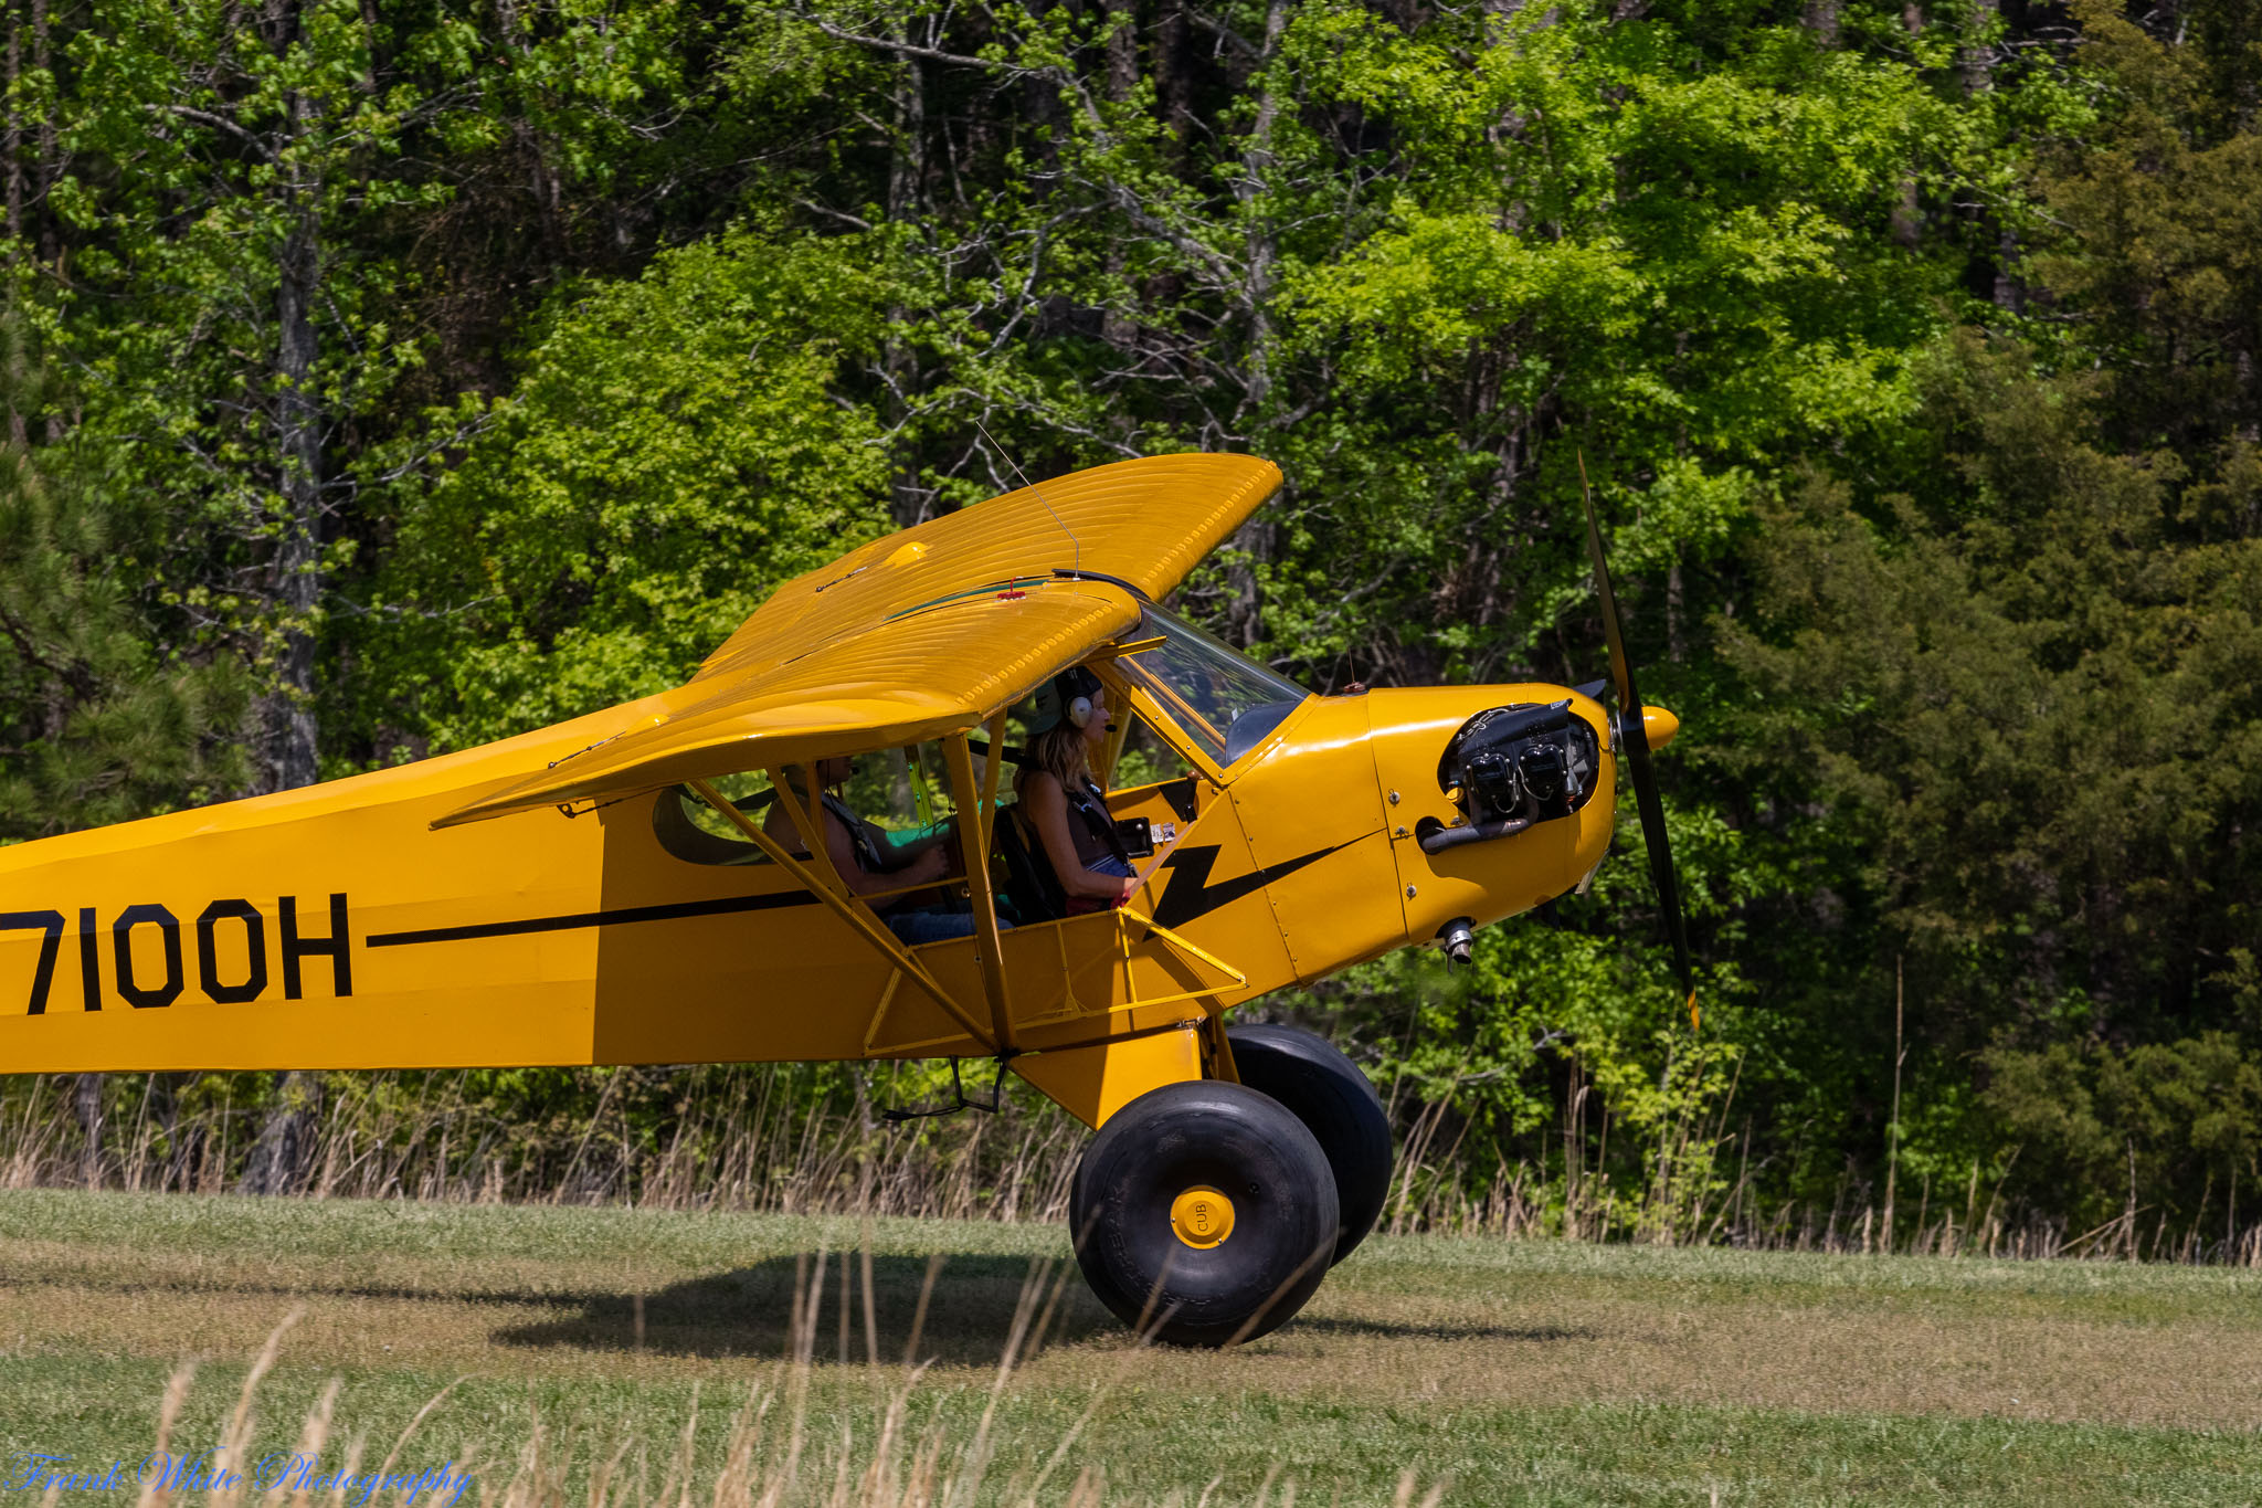
[[430, 678], [434, 746], [676, 685], [882, 529], [880, 425], [835, 387], [878, 344], [884, 255], [737, 228], [559, 312], [403, 520], [387, 586], [416, 613], [371, 653]]

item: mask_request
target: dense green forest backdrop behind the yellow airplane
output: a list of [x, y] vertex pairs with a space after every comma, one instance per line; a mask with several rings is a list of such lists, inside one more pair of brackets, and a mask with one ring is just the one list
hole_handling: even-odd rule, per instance
[[[1274, 1002], [1421, 1207], [2262, 1216], [2257, 7], [7, 0], [5, 47], [5, 837], [661, 690], [1004, 454], [1280, 461], [1181, 604], [1314, 687], [1588, 681], [1583, 452], [1703, 1031], [1631, 825], [1464, 974]], [[0, 1108], [285, 1191], [443, 1090], [425, 1191], [636, 1198], [749, 1094], [439, 1078]], [[860, 1072], [760, 1094], [979, 1162]]]

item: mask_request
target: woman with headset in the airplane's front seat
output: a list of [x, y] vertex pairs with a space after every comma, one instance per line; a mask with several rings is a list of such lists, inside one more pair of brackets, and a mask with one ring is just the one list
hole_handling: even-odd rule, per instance
[[1068, 893], [1070, 913], [1122, 904], [1138, 889], [1093, 757], [1108, 737], [1108, 692], [1081, 665], [1027, 701], [1029, 753], [1013, 791]]

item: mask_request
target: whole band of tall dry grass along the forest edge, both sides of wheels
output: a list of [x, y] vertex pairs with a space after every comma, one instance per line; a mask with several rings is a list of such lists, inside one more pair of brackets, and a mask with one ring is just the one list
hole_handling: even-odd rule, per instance
[[[536, 1115], [470, 1090], [470, 1074], [330, 1074], [308, 1110], [292, 1189], [312, 1198], [575, 1203], [1061, 1221], [1086, 1130], [1050, 1103], [889, 1126], [860, 1076], [812, 1092], [817, 1069], [572, 1069], [584, 1115]], [[167, 1083], [174, 1081], [174, 1083]], [[217, 1194], [238, 1187], [274, 1112], [265, 1076], [18, 1076], [0, 1081], [0, 1187]], [[88, 1083], [95, 1081], [95, 1083]], [[258, 1097], [238, 1099], [235, 1085]], [[654, 1094], [665, 1094], [654, 1112]], [[2009, 1210], [1975, 1169], [1920, 1185], [1916, 1207], [1850, 1173], [1828, 1205], [1769, 1201], [1726, 1126], [1733, 1087], [1696, 1097], [1647, 1146], [1640, 1176], [1606, 1162], [1608, 1117], [1565, 1106], [1563, 1153], [1479, 1162], [1452, 1097], [1393, 1103], [1391, 1234], [1552, 1237], [1755, 1250], [2129, 1259], [2262, 1268], [2262, 1223], [2178, 1223], [2135, 1191], [2095, 1230]], [[638, 1101], [636, 1108], [629, 1101]], [[1624, 1133], [1620, 1133], [1624, 1135]]]

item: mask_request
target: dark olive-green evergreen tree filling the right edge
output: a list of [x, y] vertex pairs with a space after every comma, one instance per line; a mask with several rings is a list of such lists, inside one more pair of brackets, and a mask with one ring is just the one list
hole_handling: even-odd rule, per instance
[[[2070, 84], [2095, 113], [2034, 170], [2029, 298], [2049, 319], [1943, 344], [1916, 423], [1771, 515], [1758, 613], [1726, 631], [1760, 692], [1735, 735], [1746, 800], [1807, 814], [1780, 841], [1837, 898], [1801, 909], [1834, 959], [1785, 986], [1816, 1013], [1877, 1002], [1905, 954], [1911, 1153], [2006, 1169], [2020, 1149], [2011, 1191], [2086, 1223], [2131, 1178], [2169, 1225], [2221, 1198], [2235, 1155], [2196, 1121], [2172, 1135], [2160, 1106], [2185, 1101], [2144, 1085], [2262, 1060], [2262, 389], [2242, 292], [2262, 138], [2242, 16], [2199, 7], [2176, 43], [2083, 9]], [[1796, 1056], [1810, 1103], [1866, 1106], [1848, 1146], [1866, 1158], [1889, 1047], [1862, 1015], [1846, 1047]]]

